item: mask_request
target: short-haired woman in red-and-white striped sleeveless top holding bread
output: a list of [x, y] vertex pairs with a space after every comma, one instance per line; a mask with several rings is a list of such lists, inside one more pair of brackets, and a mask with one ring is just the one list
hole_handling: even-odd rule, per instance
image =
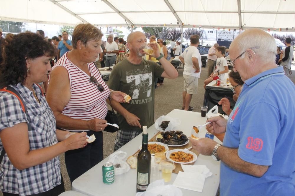
[[61, 57], [49, 76], [47, 102], [58, 127], [94, 134], [96, 140], [85, 148], [65, 153], [71, 182], [103, 160], [102, 130], [107, 126], [106, 99], [124, 102], [125, 93], [112, 91], [94, 65], [101, 53], [103, 34], [91, 24], [79, 24], [72, 36], [73, 49]]

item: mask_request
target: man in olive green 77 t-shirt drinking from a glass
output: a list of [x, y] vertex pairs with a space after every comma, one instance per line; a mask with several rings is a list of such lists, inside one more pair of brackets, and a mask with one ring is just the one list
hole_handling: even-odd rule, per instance
[[130, 103], [118, 103], [112, 100], [113, 108], [118, 112], [120, 130], [117, 132], [114, 150], [135, 138], [142, 132], [142, 126], [150, 127], [154, 123], [154, 78], [176, 78], [178, 72], [173, 65], [163, 58], [156, 43], [150, 43], [154, 55], [162, 64], [159, 66], [153, 61], [142, 59], [147, 54], [140, 50], [146, 42], [145, 34], [136, 31], [127, 37], [127, 46], [130, 50], [128, 59], [118, 63], [109, 78], [108, 86], [114, 91], [129, 94]]

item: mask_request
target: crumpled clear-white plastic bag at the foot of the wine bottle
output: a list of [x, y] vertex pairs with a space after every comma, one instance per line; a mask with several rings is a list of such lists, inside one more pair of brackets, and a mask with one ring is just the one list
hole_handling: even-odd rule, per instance
[[164, 185], [164, 179], [150, 183], [145, 192], [138, 192], [135, 196], [182, 196], [182, 191], [173, 185]]

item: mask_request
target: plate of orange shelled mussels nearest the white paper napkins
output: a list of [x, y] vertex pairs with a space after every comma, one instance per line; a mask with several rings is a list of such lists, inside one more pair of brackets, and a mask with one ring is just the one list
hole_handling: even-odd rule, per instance
[[197, 160], [197, 155], [189, 150], [174, 149], [166, 153], [166, 158], [174, 163], [189, 164]]

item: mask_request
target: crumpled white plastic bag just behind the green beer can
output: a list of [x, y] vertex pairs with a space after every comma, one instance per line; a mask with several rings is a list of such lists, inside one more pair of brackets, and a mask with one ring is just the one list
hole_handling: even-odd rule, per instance
[[115, 175], [120, 175], [130, 170], [129, 164], [123, 160], [126, 156], [127, 153], [121, 150], [114, 152], [109, 156], [109, 162], [113, 163], [114, 165]]

